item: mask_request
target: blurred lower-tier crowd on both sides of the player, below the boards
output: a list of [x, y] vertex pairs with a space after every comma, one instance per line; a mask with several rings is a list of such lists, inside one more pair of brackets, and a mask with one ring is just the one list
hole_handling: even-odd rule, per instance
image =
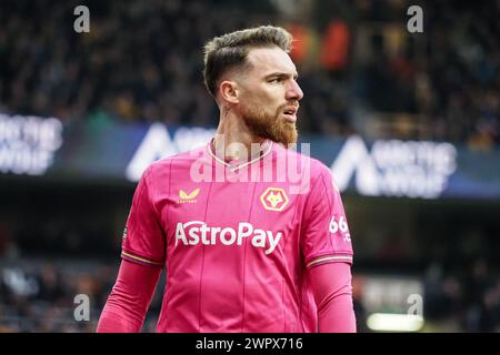
[[[22, 258], [0, 265], [0, 333], [94, 332], [118, 264]], [[463, 271], [431, 265], [421, 275], [426, 321], [421, 331], [500, 332], [500, 281], [494, 275], [481, 258]], [[146, 316], [144, 333], [156, 329], [163, 287], [164, 275]], [[358, 332], [370, 332], [360, 294], [354, 290]], [[88, 297], [87, 313], [77, 295]]]

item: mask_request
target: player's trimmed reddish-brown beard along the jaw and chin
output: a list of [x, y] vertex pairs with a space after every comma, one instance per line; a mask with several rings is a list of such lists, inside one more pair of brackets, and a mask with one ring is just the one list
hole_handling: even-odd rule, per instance
[[299, 135], [296, 123], [288, 122], [281, 115], [283, 109], [289, 105], [290, 103], [280, 105], [274, 114], [258, 108], [246, 108], [242, 111], [242, 119], [253, 135], [288, 146], [297, 143]]

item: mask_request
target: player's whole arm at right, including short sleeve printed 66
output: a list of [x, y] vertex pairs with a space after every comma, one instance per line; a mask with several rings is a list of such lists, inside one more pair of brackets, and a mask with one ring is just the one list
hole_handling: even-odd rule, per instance
[[304, 207], [302, 253], [318, 308], [319, 332], [356, 332], [352, 243], [340, 191], [320, 165]]

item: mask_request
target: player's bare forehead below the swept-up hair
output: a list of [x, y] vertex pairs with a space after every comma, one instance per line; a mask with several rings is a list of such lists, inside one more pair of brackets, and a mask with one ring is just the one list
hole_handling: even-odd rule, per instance
[[252, 64], [251, 71], [259, 73], [259, 77], [280, 72], [294, 74], [297, 72], [290, 55], [282, 49], [274, 48], [254, 48], [248, 53], [248, 61]]

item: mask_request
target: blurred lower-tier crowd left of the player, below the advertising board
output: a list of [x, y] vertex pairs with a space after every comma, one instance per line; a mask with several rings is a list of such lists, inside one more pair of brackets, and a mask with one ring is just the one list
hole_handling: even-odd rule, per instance
[[[1, 265], [0, 333], [94, 332], [118, 263], [32, 258]], [[154, 331], [160, 306], [154, 297], [143, 332]]]

